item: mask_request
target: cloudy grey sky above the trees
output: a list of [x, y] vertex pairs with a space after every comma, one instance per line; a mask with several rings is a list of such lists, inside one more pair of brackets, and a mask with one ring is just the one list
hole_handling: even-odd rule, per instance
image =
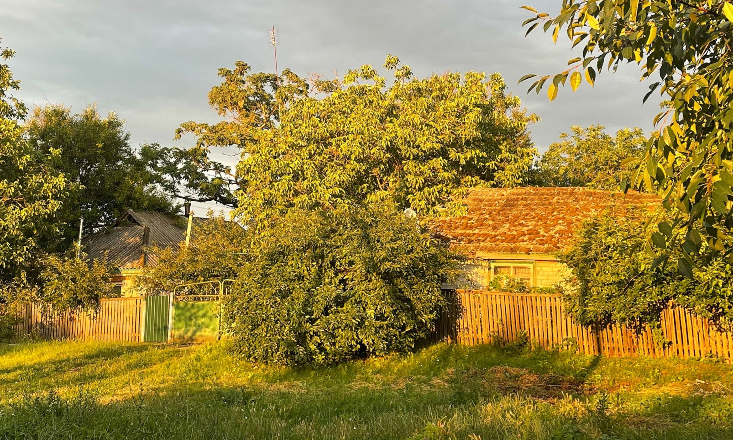
[[[9, 64], [26, 105], [62, 103], [80, 110], [96, 103], [126, 121], [133, 144], [173, 139], [182, 122], [216, 122], [207, 92], [219, 67], [242, 60], [274, 71], [268, 31], [278, 31], [278, 67], [332, 78], [399, 56], [417, 76], [469, 70], [504, 75], [509, 90], [542, 120], [531, 126], [540, 152], [572, 125], [651, 131], [658, 98], [642, 105], [649, 81], [637, 65], [604, 73], [595, 87], [561, 89], [556, 100], [517, 86], [527, 73], [558, 73], [579, 56], [567, 37], [555, 45], [521, 23], [533, 14], [522, 1], [555, 15], [561, 0], [386, 1], [277, 0], [0, 0], [0, 37], [17, 52]], [[224, 161], [232, 158], [220, 155]], [[202, 210], [221, 209], [194, 204]]]

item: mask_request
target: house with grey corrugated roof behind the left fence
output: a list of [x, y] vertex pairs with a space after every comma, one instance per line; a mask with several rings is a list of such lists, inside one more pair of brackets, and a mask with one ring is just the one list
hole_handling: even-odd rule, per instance
[[[198, 223], [201, 218], [194, 218]], [[133, 280], [144, 267], [155, 266], [158, 256], [149, 246], [177, 247], [185, 241], [188, 216], [128, 209], [112, 227], [84, 238], [89, 258], [105, 258], [117, 269], [112, 282], [122, 296], [133, 293]]]

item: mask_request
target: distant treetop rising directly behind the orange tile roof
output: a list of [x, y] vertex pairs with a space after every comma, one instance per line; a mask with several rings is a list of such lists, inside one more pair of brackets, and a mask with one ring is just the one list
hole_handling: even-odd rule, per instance
[[616, 137], [605, 133], [603, 125], [583, 130], [573, 125], [572, 136], [560, 135], [561, 142], [550, 148], [537, 161], [537, 183], [542, 186], [587, 186], [619, 190], [619, 183], [632, 170], [622, 166], [627, 158], [641, 154], [647, 137], [641, 128], [622, 128]]

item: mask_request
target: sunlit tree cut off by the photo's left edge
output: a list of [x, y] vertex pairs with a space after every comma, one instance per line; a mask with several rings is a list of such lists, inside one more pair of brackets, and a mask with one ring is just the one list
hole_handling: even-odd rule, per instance
[[[0, 48], [2, 59], [14, 52]], [[73, 185], [53, 168], [60, 151], [32, 148], [21, 121], [26, 107], [10, 95], [20, 88], [6, 64], [0, 65], [0, 282], [25, 276], [40, 243], [59, 229], [56, 218]]]

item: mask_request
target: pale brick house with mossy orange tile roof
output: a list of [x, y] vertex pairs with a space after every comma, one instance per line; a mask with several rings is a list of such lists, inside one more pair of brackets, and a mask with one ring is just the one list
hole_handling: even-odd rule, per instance
[[551, 287], [567, 275], [556, 254], [567, 249], [586, 219], [610, 210], [624, 216], [630, 206], [651, 207], [655, 194], [589, 188], [475, 188], [463, 201], [465, 216], [438, 219], [437, 227], [474, 258], [473, 278], [486, 287], [497, 276]]

